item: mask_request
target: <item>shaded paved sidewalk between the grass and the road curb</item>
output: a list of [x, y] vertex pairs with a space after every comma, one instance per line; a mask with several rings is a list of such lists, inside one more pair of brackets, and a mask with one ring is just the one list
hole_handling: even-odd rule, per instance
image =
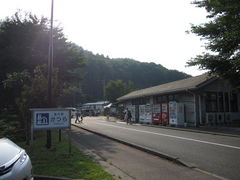
[[119, 180], [218, 180], [81, 128], [71, 132], [73, 142]]

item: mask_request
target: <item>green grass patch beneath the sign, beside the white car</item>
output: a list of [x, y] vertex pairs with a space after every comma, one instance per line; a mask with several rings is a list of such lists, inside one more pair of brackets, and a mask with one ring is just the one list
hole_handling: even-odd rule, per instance
[[[39, 133], [39, 132], [38, 132]], [[33, 174], [56, 177], [67, 177], [86, 180], [113, 180], [102, 167], [84, 155], [72, 144], [72, 154], [68, 154], [68, 140], [62, 136], [62, 142], [58, 142], [58, 133], [52, 131], [51, 150], [45, 148], [45, 132], [40, 132], [33, 142], [32, 148], [20, 144], [28, 152], [32, 165]]]

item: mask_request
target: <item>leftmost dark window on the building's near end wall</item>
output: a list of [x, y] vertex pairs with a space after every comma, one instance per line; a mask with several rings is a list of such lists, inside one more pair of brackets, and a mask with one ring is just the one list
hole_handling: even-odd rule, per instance
[[206, 111], [217, 112], [217, 93], [215, 92], [206, 93]]

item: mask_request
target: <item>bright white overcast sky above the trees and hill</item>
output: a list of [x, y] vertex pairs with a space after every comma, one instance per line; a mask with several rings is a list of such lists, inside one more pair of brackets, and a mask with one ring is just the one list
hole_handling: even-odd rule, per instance
[[[207, 21], [192, 0], [54, 0], [54, 26], [94, 54], [154, 62], [193, 76], [204, 71], [186, 62], [205, 51], [204, 42], [187, 34]], [[0, 19], [17, 10], [50, 19], [51, 0], [0, 0]]]

